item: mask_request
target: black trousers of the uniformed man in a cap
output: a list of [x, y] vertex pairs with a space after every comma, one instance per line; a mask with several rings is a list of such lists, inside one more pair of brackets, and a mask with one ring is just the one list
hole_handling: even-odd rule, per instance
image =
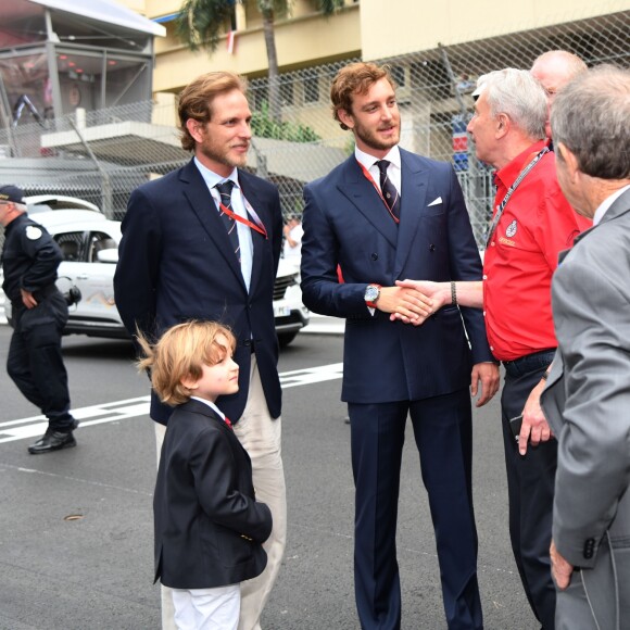
[[13, 336], [7, 371], [22, 394], [41, 410], [54, 431], [71, 430], [67, 373], [61, 353], [61, 337], [67, 305], [55, 291], [35, 308], [13, 307]]

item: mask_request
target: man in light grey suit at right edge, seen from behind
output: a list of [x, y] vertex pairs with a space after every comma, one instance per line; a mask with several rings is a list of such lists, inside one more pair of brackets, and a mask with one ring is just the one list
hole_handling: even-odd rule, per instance
[[558, 441], [558, 630], [630, 622], [629, 118], [630, 72], [613, 66], [581, 74], [552, 110], [558, 181], [593, 219], [553, 277], [558, 350], [542, 395]]

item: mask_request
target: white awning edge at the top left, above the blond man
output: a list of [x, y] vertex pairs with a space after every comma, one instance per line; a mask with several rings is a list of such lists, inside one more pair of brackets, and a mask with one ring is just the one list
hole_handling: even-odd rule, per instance
[[77, 2], [77, 0], [28, 0], [34, 4], [47, 7], [55, 11], [64, 11], [88, 20], [96, 20], [105, 24], [113, 24], [136, 30], [148, 33], [159, 37], [166, 35], [166, 28], [152, 20], [114, 2], [113, 0], [89, 0], [89, 2]]

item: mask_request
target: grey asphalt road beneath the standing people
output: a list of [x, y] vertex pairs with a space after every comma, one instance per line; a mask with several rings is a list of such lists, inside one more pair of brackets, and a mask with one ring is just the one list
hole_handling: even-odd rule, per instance
[[[10, 329], [0, 326], [4, 366]], [[78, 448], [29, 455], [45, 425], [0, 370], [0, 630], [160, 628], [152, 584], [153, 427], [129, 344], [64, 340]], [[339, 401], [340, 336], [300, 335], [280, 356], [289, 540], [264, 630], [358, 628], [353, 482]], [[509, 551], [499, 402], [475, 413], [475, 506], [487, 630], [537, 628]], [[403, 629], [445, 628], [413, 436], [402, 470]]]

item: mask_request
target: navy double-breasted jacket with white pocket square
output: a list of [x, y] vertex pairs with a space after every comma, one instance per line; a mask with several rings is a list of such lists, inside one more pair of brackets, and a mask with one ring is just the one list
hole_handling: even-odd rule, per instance
[[449, 305], [414, 327], [392, 323], [380, 311], [371, 316], [365, 305], [369, 282], [392, 287], [403, 279], [482, 276], [452, 166], [403, 149], [401, 160], [398, 227], [354, 155], [304, 190], [303, 300], [315, 313], [346, 318], [342, 400], [348, 402], [451, 393], [470, 386], [474, 363], [494, 361], [480, 310]]

